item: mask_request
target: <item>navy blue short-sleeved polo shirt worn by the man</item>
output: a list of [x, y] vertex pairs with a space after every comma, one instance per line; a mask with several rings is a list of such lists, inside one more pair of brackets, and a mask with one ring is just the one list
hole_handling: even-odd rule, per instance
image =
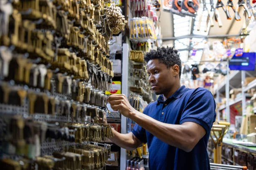
[[210, 170], [207, 142], [215, 121], [215, 101], [205, 88], [180, 87], [166, 101], [163, 95], [151, 102], [144, 114], [164, 123], [181, 125], [196, 122], [205, 128], [206, 134], [189, 153], [168, 145], [138, 124], [132, 133], [143, 143], [148, 143], [150, 170]]

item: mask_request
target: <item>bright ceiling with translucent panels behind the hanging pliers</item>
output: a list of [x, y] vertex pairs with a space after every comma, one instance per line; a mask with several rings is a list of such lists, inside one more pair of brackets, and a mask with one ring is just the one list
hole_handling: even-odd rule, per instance
[[[214, 0], [216, 4], [217, 0]], [[224, 5], [227, 3], [228, 0], [222, 0]], [[233, 4], [236, 6], [238, 0], [233, 0]], [[206, 0], [207, 7], [210, 8], [209, 0]], [[202, 10], [202, 8], [201, 8]], [[198, 13], [201, 13], [201, 10]], [[160, 15], [161, 13], [161, 15]], [[221, 21], [223, 26], [220, 28], [218, 23], [214, 21], [214, 26], [210, 27], [207, 32], [204, 32], [206, 20], [207, 20], [207, 13], [203, 13], [203, 18], [201, 22], [200, 31], [197, 31], [197, 25], [199, 17], [196, 18], [192, 17], [180, 17], [179, 15], [173, 15], [169, 11], [163, 10], [161, 7], [161, 11], [158, 13], [160, 15], [160, 26], [161, 26], [161, 35], [163, 38], [163, 45], [174, 45], [177, 50], [179, 50], [181, 59], [183, 62], [187, 60], [194, 60], [200, 61], [203, 56], [203, 42], [207, 40], [208, 42], [212, 43], [216, 40], [223, 40], [223, 39], [216, 39], [216, 38], [187, 38], [187, 39], [179, 39], [179, 40], [166, 40], [166, 38], [172, 38], [182, 35], [235, 35], [239, 34], [243, 25], [243, 8], [240, 7], [239, 14], [242, 18], [241, 21], [235, 20], [235, 14], [233, 10], [230, 8], [230, 15], [232, 20], [227, 20], [226, 14], [223, 9], [219, 8], [219, 13], [221, 16]], [[195, 21], [194, 21], [195, 20]], [[198, 42], [198, 43], [197, 43]], [[195, 45], [197, 44], [197, 45]], [[191, 56], [192, 49], [197, 49], [196, 56]]]

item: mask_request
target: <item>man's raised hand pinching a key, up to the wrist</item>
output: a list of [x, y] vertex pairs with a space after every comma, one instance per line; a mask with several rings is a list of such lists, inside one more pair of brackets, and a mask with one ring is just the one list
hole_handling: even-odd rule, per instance
[[118, 111], [125, 117], [131, 118], [133, 113], [137, 112], [127, 100], [127, 97], [123, 94], [121, 95], [110, 95], [107, 102], [113, 110]]

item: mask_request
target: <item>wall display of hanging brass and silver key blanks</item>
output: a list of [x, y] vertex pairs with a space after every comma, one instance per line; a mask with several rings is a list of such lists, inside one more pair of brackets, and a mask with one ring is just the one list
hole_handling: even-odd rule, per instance
[[0, 1], [4, 169], [105, 167], [110, 145], [99, 142], [113, 136], [100, 123], [113, 78], [108, 41], [127, 23], [109, 2]]

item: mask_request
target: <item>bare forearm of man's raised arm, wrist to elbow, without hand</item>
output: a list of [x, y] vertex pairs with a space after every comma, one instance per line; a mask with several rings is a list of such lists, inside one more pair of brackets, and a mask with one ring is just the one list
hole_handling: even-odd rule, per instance
[[194, 147], [198, 142], [195, 141], [197, 134], [192, 133], [186, 125], [163, 123], [141, 112], [134, 112], [130, 118], [164, 143], [184, 151], [191, 151], [191, 146]]

